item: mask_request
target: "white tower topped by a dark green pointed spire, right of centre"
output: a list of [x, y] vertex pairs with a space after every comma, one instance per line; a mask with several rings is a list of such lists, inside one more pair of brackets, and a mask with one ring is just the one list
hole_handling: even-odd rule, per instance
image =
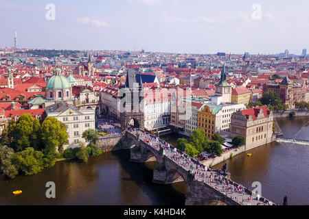
[[216, 85], [216, 93], [217, 96], [222, 96], [223, 103], [231, 103], [231, 85], [227, 83], [227, 75], [225, 73], [225, 64], [223, 64], [223, 68], [221, 70], [221, 79], [219, 83]]

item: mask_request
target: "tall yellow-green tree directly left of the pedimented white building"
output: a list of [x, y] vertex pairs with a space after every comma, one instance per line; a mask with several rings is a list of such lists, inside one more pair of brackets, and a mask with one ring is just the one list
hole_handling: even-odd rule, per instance
[[69, 142], [67, 129], [64, 123], [61, 123], [54, 117], [45, 118], [41, 129], [46, 166], [52, 167], [57, 157], [59, 157], [58, 151], [62, 152], [63, 145]]

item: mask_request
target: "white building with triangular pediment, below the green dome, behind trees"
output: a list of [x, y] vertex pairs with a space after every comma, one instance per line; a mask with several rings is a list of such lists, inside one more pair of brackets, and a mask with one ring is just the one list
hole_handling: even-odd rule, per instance
[[95, 110], [78, 110], [74, 105], [65, 102], [55, 103], [45, 108], [47, 117], [54, 117], [67, 127], [69, 144], [65, 149], [79, 146], [85, 142], [82, 133], [87, 129], [95, 129]]

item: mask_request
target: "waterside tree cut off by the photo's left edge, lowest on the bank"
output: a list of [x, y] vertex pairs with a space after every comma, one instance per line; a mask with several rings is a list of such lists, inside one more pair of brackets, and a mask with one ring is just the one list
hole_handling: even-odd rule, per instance
[[14, 155], [13, 149], [0, 145], [0, 171], [3, 171], [4, 175], [10, 179], [13, 179], [19, 173], [12, 163]]

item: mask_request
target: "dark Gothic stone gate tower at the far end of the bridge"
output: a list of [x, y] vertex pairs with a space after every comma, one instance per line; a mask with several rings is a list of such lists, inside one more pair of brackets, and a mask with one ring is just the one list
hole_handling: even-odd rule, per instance
[[137, 83], [136, 73], [133, 68], [126, 72], [126, 84], [119, 91], [120, 125], [122, 131], [128, 129], [129, 123], [134, 127], [144, 130], [144, 86], [139, 75]]

